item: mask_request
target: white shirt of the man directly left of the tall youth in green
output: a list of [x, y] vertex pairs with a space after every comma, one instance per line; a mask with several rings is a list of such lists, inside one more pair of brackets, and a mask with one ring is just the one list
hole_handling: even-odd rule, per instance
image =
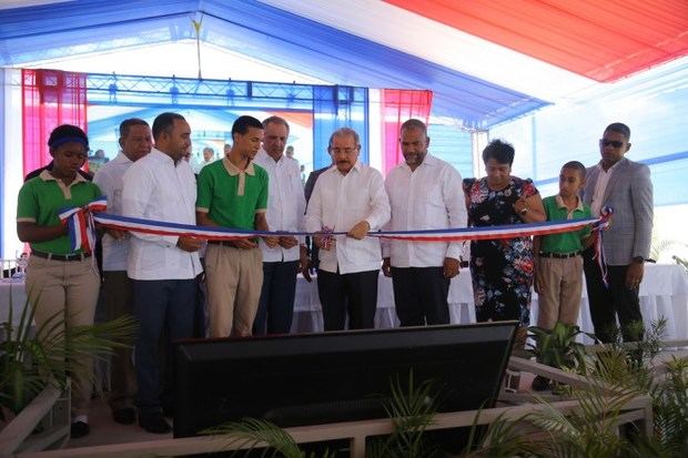
[[[196, 182], [186, 161], [153, 149], [124, 173], [122, 214], [195, 224]], [[127, 273], [134, 279], [189, 279], [202, 272], [198, 253], [176, 246], [178, 236], [132, 232]]]

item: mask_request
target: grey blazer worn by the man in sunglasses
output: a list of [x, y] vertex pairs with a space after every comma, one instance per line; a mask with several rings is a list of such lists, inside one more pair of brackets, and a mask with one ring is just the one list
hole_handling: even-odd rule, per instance
[[[583, 201], [590, 204], [600, 167], [587, 170]], [[636, 256], [649, 257], [652, 237], [652, 182], [647, 165], [623, 157], [605, 190], [604, 205], [614, 208], [610, 225], [603, 234], [608, 265], [628, 265]], [[597, 215], [594, 215], [597, 216]]]

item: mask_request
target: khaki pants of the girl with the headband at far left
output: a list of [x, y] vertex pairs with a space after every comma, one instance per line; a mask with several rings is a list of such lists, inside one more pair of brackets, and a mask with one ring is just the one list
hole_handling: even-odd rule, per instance
[[[37, 329], [51, 317], [47, 328], [92, 325], [100, 289], [100, 276], [92, 258], [54, 261], [31, 256], [27, 268], [27, 295], [36, 307]], [[45, 336], [48, 337], [48, 336]], [[72, 374], [72, 415], [87, 415], [91, 403], [93, 359], [87, 358], [83, 370]]]

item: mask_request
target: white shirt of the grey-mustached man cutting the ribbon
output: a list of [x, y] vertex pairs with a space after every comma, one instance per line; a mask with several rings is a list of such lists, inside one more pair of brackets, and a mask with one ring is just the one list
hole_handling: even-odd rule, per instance
[[[385, 193], [382, 174], [356, 161], [346, 175], [331, 167], [317, 177], [306, 211], [306, 231], [316, 232], [328, 227], [335, 232], [348, 232], [362, 221], [371, 231], [380, 230], [389, 221], [389, 201]], [[337, 235], [336, 245], [320, 251], [320, 268], [326, 272], [352, 274], [380, 268], [382, 255], [380, 240], [365, 237], [357, 241]]]

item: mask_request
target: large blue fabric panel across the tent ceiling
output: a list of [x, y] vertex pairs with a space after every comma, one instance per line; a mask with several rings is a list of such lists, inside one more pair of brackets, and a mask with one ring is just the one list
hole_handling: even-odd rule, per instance
[[3, 10], [0, 65], [193, 39], [190, 19], [199, 16], [201, 40], [272, 65], [304, 69], [344, 85], [433, 88], [434, 114], [458, 119], [467, 129], [486, 129], [548, 104], [255, 0], [80, 0]]

